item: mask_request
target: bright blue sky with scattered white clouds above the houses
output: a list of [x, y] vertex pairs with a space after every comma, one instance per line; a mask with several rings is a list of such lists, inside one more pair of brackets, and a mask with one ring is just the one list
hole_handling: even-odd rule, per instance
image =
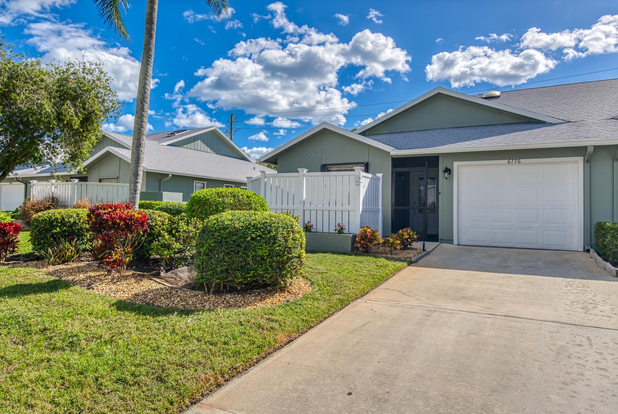
[[[103, 62], [125, 102], [125, 115], [104, 126], [130, 134], [144, 4], [134, 1], [125, 16], [129, 44], [104, 25], [91, 1], [81, 0], [0, 0], [0, 33], [44, 60]], [[225, 130], [230, 114], [239, 114], [234, 142], [260, 154], [323, 120], [362, 125], [403, 103], [368, 104], [410, 100], [438, 86], [508, 90], [618, 67], [616, 1], [231, 0], [229, 6], [231, 15], [218, 18], [202, 2], [159, 2], [153, 131]], [[618, 70], [533, 85], [614, 77]], [[323, 108], [330, 109], [314, 111]]]

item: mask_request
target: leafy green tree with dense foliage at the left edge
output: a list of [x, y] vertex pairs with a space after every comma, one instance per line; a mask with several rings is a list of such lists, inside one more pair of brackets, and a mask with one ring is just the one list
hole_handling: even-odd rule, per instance
[[0, 38], [0, 181], [25, 164], [80, 169], [120, 107], [100, 64], [44, 63]]

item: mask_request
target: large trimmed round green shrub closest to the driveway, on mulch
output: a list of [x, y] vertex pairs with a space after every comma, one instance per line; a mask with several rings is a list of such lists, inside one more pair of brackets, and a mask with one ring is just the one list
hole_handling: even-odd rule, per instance
[[305, 263], [305, 233], [286, 214], [227, 211], [206, 219], [195, 250], [195, 280], [208, 292], [285, 285]]

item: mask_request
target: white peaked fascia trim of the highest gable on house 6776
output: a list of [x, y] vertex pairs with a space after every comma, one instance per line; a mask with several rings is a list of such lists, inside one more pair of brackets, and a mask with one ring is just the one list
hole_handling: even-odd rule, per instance
[[551, 116], [541, 115], [541, 114], [538, 114], [536, 112], [526, 111], [525, 109], [515, 108], [514, 106], [509, 106], [509, 105], [505, 105], [505, 104], [489, 101], [487, 99], [476, 98], [475, 96], [466, 95], [465, 93], [461, 93], [461, 92], [457, 92], [457, 91], [452, 91], [450, 89], [445, 89], [445, 88], [438, 87], [438, 88], [434, 88], [434, 89], [430, 90], [429, 92], [425, 93], [424, 95], [419, 96], [418, 98], [414, 99], [413, 101], [410, 101], [407, 104], [404, 104], [404, 105], [400, 106], [399, 108], [394, 109], [393, 111], [388, 112], [387, 114], [384, 114], [383, 116], [381, 116], [381, 117], [379, 117], [377, 119], [372, 120], [369, 124], [365, 124], [362, 127], [360, 127], [359, 129], [355, 130], [354, 133], [361, 133], [361, 132], [363, 132], [365, 130], [373, 128], [376, 125], [380, 124], [381, 122], [384, 122], [384, 121], [386, 121], [388, 119], [391, 119], [394, 116], [397, 116], [401, 112], [404, 112], [404, 111], [406, 111], [409, 108], [412, 108], [412, 106], [420, 104], [421, 102], [425, 101], [426, 99], [431, 98], [434, 95], [437, 95], [438, 93], [441, 93], [442, 95], [452, 96], [453, 98], [464, 99], [464, 101], [468, 101], [468, 102], [472, 102], [472, 103], [477, 103], [477, 104], [481, 104], [481, 105], [484, 105], [484, 106], [488, 106], [489, 108], [501, 109], [502, 111], [511, 112], [513, 114], [517, 114], [517, 115], [520, 115], [520, 116], [525, 116], [525, 117], [528, 117], [528, 118], [537, 119], [537, 120], [540, 120], [542, 122], [547, 122], [548, 124], [562, 124], [563, 122], [566, 122], [563, 119], [558, 119], [558, 118], [554, 118], [554, 117], [551, 117]]

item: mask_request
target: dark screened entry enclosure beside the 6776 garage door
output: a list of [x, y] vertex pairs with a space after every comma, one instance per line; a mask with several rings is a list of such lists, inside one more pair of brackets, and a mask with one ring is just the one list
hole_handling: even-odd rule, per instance
[[392, 159], [392, 231], [410, 227], [418, 240], [438, 241], [439, 158]]

